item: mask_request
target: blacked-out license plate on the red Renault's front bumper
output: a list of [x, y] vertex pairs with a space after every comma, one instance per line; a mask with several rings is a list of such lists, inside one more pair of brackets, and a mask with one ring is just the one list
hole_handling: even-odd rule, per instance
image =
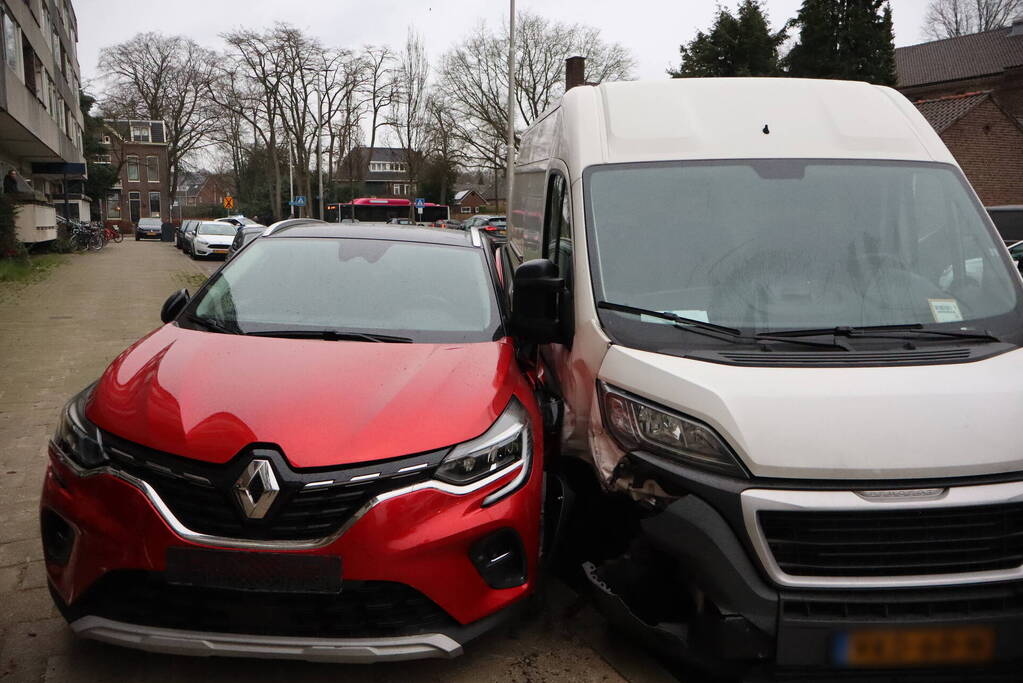
[[341, 592], [341, 557], [168, 548], [167, 582], [266, 593]]

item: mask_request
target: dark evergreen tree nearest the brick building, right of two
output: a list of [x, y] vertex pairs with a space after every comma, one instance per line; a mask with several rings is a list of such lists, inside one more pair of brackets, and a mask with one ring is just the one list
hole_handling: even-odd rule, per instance
[[895, 85], [895, 37], [888, 0], [804, 0], [792, 26], [799, 42], [789, 75]]

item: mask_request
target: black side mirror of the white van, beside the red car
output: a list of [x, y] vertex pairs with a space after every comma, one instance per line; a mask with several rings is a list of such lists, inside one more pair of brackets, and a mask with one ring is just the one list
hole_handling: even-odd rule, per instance
[[559, 344], [564, 339], [559, 301], [565, 279], [549, 259], [527, 261], [515, 270], [511, 289], [511, 333], [533, 344]]

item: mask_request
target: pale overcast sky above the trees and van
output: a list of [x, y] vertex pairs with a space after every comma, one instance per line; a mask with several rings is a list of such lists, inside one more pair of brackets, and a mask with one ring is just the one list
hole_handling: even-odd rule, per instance
[[[78, 56], [82, 80], [96, 76], [103, 47], [136, 33], [158, 31], [190, 36], [212, 48], [218, 34], [235, 28], [258, 29], [286, 21], [327, 45], [404, 42], [409, 25], [426, 39], [432, 57], [469, 36], [481, 20], [497, 25], [507, 15], [504, 0], [74, 0], [79, 22]], [[710, 27], [716, 0], [518, 0], [551, 18], [598, 28], [604, 38], [626, 46], [636, 57], [636, 76], [665, 77], [678, 62], [678, 45]], [[721, 4], [735, 7], [738, 0]], [[764, 0], [774, 28], [795, 15], [802, 0]], [[922, 42], [928, 0], [891, 0], [895, 44]]]

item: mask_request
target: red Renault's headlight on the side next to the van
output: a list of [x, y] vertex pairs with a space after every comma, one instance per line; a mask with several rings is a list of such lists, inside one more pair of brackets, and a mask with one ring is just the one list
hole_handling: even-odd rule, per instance
[[483, 499], [483, 506], [493, 505], [522, 488], [529, 479], [532, 464], [529, 413], [518, 399], [481, 436], [458, 444], [447, 454], [434, 477], [450, 485], [444, 490], [456, 494], [477, 491], [518, 469], [506, 485]]

